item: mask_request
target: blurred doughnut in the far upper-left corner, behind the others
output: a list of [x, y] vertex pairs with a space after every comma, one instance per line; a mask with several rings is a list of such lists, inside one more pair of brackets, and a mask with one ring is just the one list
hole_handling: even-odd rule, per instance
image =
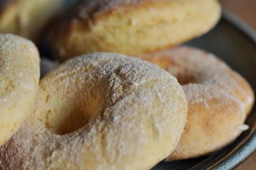
[[38, 40], [63, 0], [1, 0], [0, 33], [13, 33]]

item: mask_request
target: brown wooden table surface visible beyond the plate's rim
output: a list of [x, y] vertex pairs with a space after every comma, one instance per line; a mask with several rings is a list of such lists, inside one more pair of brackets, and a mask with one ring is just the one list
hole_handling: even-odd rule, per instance
[[[253, 27], [256, 34], [256, 0], [222, 0], [221, 4], [223, 8], [233, 12]], [[256, 170], [256, 152], [236, 170]]]

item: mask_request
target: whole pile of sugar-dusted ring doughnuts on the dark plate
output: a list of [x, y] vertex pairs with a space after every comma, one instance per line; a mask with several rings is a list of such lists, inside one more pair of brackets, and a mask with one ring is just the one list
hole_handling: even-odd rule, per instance
[[[1, 33], [34, 40], [63, 3], [26, 1], [0, 3]], [[250, 84], [177, 46], [220, 16], [216, 0], [78, 0], [49, 32], [61, 64], [42, 79], [36, 46], [1, 34], [0, 169], [150, 169], [232, 143], [249, 128]]]

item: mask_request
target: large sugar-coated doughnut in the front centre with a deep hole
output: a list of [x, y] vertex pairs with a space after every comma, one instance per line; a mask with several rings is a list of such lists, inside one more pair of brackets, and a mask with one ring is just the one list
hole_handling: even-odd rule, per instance
[[150, 169], [175, 149], [188, 111], [170, 73], [112, 53], [61, 64], [35, 103], [0, 148], [5, 169]]

